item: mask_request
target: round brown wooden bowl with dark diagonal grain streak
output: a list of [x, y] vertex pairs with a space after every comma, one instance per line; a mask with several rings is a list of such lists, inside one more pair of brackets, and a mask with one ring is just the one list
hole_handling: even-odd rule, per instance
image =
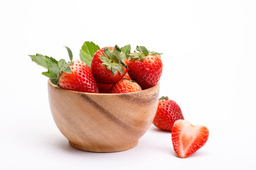
[[61, 89], [48, 81], [50, 111], [72, 147], [119, 152], [136, 146], [149, 129], [159, 100], [159, 84], [128, 94], [90, 94]]

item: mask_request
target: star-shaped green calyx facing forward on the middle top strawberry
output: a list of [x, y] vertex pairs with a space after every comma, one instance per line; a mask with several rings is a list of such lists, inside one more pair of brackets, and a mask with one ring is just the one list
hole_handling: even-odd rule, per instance
[[102, 61], [102, 65], [105, 65], [107, 69], [112, 71], [112, 74], [119, 72], [121, 75], [123, 74], [123, 67], [127, 67], [127, 65], [123, 62], [126, 58], [126, 55], [120, 50], [120, 48], [115, 45], [114, 50], [110, 50], [109, 47], [105, 47], [103, 50], [104, 55], [100, 55], [100, 60]]

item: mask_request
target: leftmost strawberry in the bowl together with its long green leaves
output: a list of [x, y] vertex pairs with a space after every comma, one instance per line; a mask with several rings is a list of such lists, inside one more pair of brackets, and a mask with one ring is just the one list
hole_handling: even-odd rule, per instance
[[66, 48], [70, 62], [65, 62], [64, 59], [57, 61], [53, 57], [40, 54], [29, 56], [33, 62], [48, 69], [48, 72], [42, 74], [50, 78], [53, 84], [73, 91], [99, 93], [90, 67], [82, 61], [73, 62], [73, 54], [70, 48]]

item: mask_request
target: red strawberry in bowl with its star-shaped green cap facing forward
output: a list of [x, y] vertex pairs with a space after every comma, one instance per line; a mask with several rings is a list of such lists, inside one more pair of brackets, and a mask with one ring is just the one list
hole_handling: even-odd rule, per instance
[[97, 50], [92, 58], [92, 74], [101, 84], [115, 84], [127, 72], [127, 58], [116, 45]]

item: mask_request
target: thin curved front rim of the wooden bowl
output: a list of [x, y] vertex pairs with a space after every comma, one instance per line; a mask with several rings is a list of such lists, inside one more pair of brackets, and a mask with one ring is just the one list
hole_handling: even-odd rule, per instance
[[55, 84], [53, 84], [50, 79], [48, 79], [48, 84], [50, 84], [50, 86], [52, 86], [55, 89], [59, 89], [59, 90], [63, 90], [63, 91], [70, 91], [72, 93], [77, 93], [77, 94], [86, 94], [86, 95], [99, 95], [99, 96], [123, 96], [123, 95], [129, 95], [129, 94], [140, 94], [140, 93], [144, 93], [146, 91], [151, 91], [152, 89], [156, 89], [159, 87], [159, 82], [155, 85], [152, 86], [149, 89], [144, 89], [142, 91], [135, 91], [135, 92], [130, 92], [130, 93], [122, 93], [122, 94], [102, 94], [102, 93], [87, 93], [87, 92], [82, 92], [82, 91], [73, 91], [73, 90], [68, 90], [68, 89], [63, 89], [60, 88], [60, 86], [57, 86]]

